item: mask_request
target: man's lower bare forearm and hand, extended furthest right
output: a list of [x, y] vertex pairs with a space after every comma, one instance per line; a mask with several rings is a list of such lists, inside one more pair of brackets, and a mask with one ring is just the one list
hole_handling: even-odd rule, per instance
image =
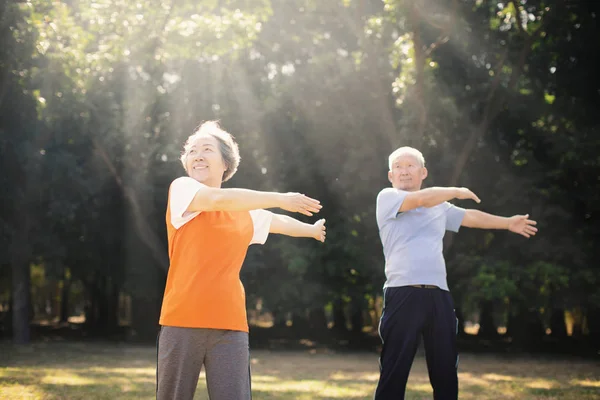
[[526, 238], [535, 236], [537, 222], [529, 219], [529, 214], [499, 217], [479, 210], [466, 210], [461, 226], [480, 229], [506, 229]]

